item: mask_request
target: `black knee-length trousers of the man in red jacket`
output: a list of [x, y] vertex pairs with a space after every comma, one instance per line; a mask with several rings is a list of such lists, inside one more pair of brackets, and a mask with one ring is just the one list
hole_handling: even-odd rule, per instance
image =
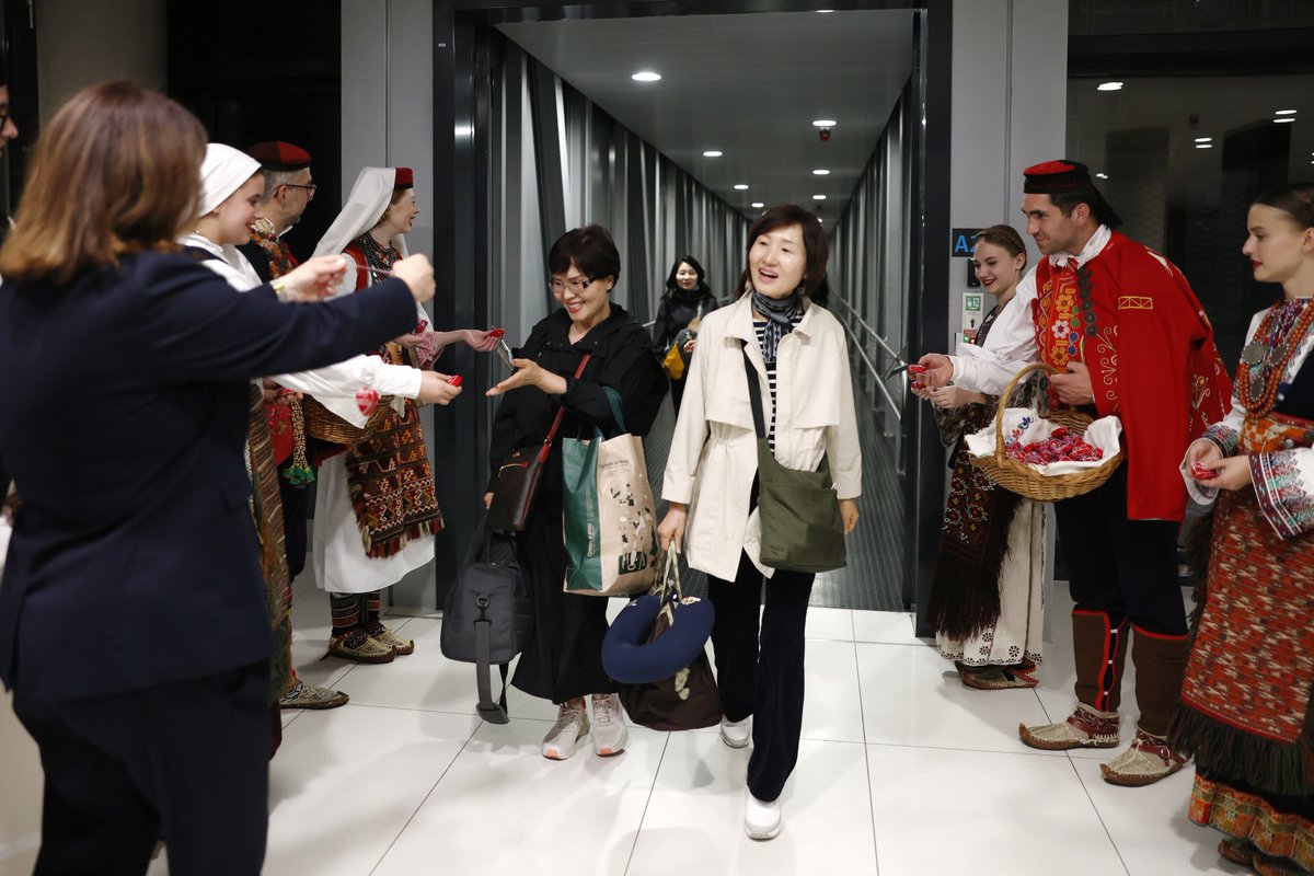
[[1184, 636], [1187, 612], [1177, 580], [1173, 520], [1127, 519], [1127, 466], [1085, 495], [1054, 504], [1077, 611], [1129, 619], [1160, 636]]

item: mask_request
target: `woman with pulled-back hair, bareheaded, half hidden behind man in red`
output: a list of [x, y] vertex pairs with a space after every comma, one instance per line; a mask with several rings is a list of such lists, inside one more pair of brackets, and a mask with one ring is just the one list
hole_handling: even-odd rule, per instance
[[[999, 348], [1007, 341], [1000, 334], [992, 343], [991, 326], [1005, 309], [1024, 306], [1014, 293], [1026, 269], [1026, 247], [1012, 227], [991, 226], [976, 235], [974, 261], [976, 278], [996, 302], [971, 345]], [[967, 687], [1035, 687], [1043, 640], [1045, 510], [996, 486], [961, 452], [963, 435], [993, 424], [1000, 399], [961, 386], [930, 389], [916, 382], [913, 394], [936, 406], [941, 439], [954, 448], [928, 607], [936, 645], [954, 661]]]

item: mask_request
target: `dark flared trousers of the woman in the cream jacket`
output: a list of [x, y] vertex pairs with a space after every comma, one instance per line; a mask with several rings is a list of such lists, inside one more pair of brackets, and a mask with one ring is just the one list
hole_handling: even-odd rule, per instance
[[[716, 608], [712, 650], [721, 712], [731, 721], [753, 716], [753, 755], [748, 789], [775, 800], [799, 760], [803, 732], [803, 628], [812, 595], [811, 573], [777, 571], [762, 577], [748, 554], [735, 580], [708, 575]], [[766, 582], [766, 609], [758, 634], [758, 608]]]

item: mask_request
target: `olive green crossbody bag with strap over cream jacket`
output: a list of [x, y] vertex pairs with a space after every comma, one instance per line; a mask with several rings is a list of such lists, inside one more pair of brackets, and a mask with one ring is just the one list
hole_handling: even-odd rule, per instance
[[825, 458], [816, 471], [787, 469], [766, 440], [762, 389], [744, 352], [749, 406], [757, 429], [757, 514], [762, 527], [763, 566], [784, 571], [830, 571], [846, 565], [844, 517]]

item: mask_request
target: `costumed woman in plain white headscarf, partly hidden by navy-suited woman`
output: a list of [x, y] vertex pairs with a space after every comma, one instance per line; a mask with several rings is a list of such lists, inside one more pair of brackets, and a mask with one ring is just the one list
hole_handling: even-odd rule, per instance
[[[238, 292], [261, 285], [251, 263], [237, 247], [250, 239], [255, 204], [263, 192], [260, 164], [231, 146], [210, 143], [201, 164], [201, 215], [194, 230], [179, 238], [184, 251], [229, 281]], [[301, 393], [314, 393], [339, 416], [359, 418], [355, 394], [361, 386], [409, 398], [427, 398], [445, 403], [456, 394], [438, 374], [422, 374], [414, 368], [385, 365], [373, 356], [352, 359], [313, 372], [280, 374], [273, 382]], [[292, 666], [292, 587], [283, 553], [283, 510], [279, 498], [276, 466], [293, 456], [294, 427], [300, 416], [296, 401], [268, 402], [259, 408], [252, 398], [247, 452], [255, 495], [254, 512], [260, 535], [261, 566], [268, 584], [269, 612], [275, 629], [275, 655], [271, 665], [272, 690], [281, 708], [327, 709], [347, 703], [347, 695], [297, 678]], [[283, 439], [286, 439], [284, 441]], [[285, 444], [285, 447], [281, 447]], [[305, 464], [304, 436], [296, 436], [296, 452]], [[275, 728], [281, 722], [275, 721]]]

